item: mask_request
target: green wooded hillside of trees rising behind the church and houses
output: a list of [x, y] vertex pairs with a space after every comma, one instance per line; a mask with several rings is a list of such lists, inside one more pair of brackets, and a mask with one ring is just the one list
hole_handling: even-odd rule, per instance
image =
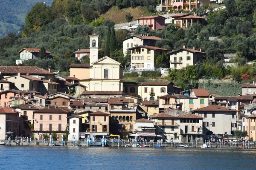
[[[0, 40], [0, 65], [14, 65], [19, 57], [17, 52], [23, 47], [42, 48], [51, 52], [50, 57], [42, 56], [23, 65], [41, 68], [50, 65], [55, 71], [67, 71], [69, 64], [79, 62], [73, 51], [89, 48], [90, 34], [99, 35], [99, 48], [102, 48], [99, 57], [109, 53], [111, 58], [125, 64], [130, 58], [122, 54], [122, 40], [130, 34], [128, 30], [114, 31], [115, 40], [113, 35], [111, 40], [115, 49], [105, 52], [113, 32], [110, 28], [115, 23], [101, 15], [113, 6], [119, 9], [145, 6], [149, 13], [156, 14], [154, 9], [158, 3], [157, 0], [54, 0], [51, 6], [37, 3], [28, 12], [21, 34], [8, 34]], [[140, 26], [134, 34], [162, 38], [156, 44], [160, 48], [172, 50], [186, 45], [205, 52], [205, 59], [197, 65], [169, 71], [166, 78], [185, 89], [191, 85], [195, 87], [198, 79], [203, 77], [228, 77], [238, 82], [253, 79], [256, 76], [256, 1], [225, 0], [225, 6], [219, 11], [214, 11], [211, 6], [201, 6], [192, 11], [192, 14], [207, 17], [204, 26], [194, 23], [189, 28], [177, 29], [175, 24], [170, 23], [157, 31]], [[218, 37], [218, 40], [208, 40], [208, 37]], [[224, 68], [224, 54], [230, 53], [236, 54], [236, 59], [231, 62], [236, 63], [237, 67]], [[253, 64], [248, 65], [247, 61]], [[81, 62], [87, 62], [87, 59]]]

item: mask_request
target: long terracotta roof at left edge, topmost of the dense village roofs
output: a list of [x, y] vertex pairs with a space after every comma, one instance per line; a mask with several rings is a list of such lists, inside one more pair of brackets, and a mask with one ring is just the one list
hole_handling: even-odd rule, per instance
[[0, 66], [2, 74], [55, 74], [35, 66]]

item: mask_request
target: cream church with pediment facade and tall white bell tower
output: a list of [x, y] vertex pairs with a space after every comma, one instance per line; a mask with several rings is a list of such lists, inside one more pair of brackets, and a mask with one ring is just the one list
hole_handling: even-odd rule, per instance
[[90, 94], [99, 91], [119, 91], [123, 86], [123, 67], [121, 64], [108, 56], [98, 59], [99, 35], [92, 34], [90, 37], [90, 64], [70, 65], [70, 77], [80, 79], [80, 84], [86, 86]]

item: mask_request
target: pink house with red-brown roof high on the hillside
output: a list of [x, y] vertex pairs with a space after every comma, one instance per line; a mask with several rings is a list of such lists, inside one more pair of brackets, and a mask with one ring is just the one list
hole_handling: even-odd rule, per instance
[[147, 25], [149, 30], [163, 29], [165, 19], [166, 18], [162, 16], [143, 17], [143, 15], [140, 18], [137, 18], [140, 26]]

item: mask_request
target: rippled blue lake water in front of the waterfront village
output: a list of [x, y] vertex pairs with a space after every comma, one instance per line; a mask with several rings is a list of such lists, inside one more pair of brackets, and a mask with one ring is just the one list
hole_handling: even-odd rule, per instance
[[255, 149], [0, 146], [0, 170], [255, 169]]

